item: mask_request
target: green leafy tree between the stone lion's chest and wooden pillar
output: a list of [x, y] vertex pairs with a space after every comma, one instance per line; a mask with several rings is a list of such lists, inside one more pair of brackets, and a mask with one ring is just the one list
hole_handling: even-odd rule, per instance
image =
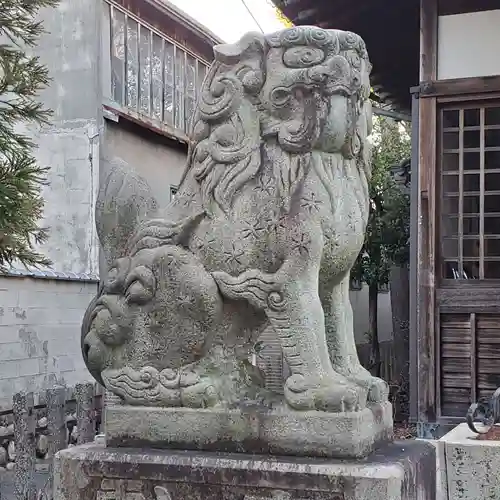
[[410, 198], [391, 175], [391, 167], [410, 157], [408, 130], [385, 117], [373, 129], [370, 216], [365, 242], [351, 278], [369, 286], [387, 285], [392, 263], [409, 259]]

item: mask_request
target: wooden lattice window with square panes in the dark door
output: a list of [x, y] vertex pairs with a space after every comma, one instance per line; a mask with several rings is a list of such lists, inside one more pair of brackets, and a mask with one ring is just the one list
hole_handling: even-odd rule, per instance
[[442, 277], [500, 279], [500, 103], [440, 115]]

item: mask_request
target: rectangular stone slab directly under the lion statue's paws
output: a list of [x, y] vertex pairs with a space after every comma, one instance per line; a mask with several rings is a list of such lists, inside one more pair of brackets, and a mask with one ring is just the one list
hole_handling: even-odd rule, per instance
[[117, 448], [360, 458], [392, 440], [392, 406], [326, 413], [110, 405], [105, 429], [107, 445]]

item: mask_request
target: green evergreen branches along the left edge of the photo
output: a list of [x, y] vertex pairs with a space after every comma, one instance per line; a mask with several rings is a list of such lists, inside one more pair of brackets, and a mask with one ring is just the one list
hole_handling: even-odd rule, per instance
[[37, 164], [35, 145], [19, 130], [50, 117], [36, 99], [49, 83], [48, 71], [29, 52], [44, 32], [38, 11], [56, 4], [0, 0], [0, 269], [15, 260], [26, 266], [50, 264], [34, 249], [47, 239], [47, 229], [38, 227], [47, 168]]

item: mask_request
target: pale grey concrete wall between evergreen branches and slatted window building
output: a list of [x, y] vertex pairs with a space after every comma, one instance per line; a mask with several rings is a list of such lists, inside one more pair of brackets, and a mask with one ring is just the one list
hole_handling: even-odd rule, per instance
[[61, 0], [40, 17], [48, 33], [35, 52], [52, 78], [40, 97], [54, 111], [50, 126], [35, 133], [37, 159], [50, 167], [42, 222], [50, 238], [41, 250], [56, 271], [97, 273], [101, 4]]

